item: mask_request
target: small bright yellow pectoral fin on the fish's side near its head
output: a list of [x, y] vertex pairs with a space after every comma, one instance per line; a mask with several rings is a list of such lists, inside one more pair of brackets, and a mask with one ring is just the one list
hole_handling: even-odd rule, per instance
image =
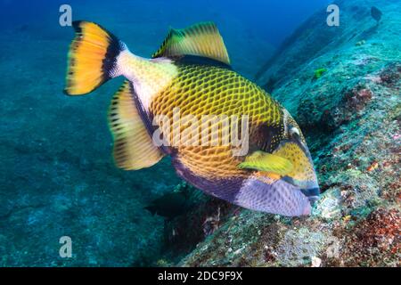
[[282, 176], [291, 173], [293, 168], [289, 159], [284, 159], [264, 151], [253, 152], [238, 167], [271, 172]]

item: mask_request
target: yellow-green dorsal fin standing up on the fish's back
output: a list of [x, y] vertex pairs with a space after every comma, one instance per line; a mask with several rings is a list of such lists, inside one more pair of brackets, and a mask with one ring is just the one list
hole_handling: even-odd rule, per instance
[[151, 57], [178, 55], [203, 56], [230, 64], [223, 38], [213, 22], [202, 22], [188, 28], [170, 28], [160, 49]]

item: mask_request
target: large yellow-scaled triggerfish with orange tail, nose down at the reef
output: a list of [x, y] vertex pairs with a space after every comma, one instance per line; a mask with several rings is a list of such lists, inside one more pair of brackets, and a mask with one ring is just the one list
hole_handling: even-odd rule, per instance
[[[170, 29], [151, 59], [131, 53], [93, 22], [75, 21], [73, 28], [66, 94], [87, 94], [110, 78], [127, 78], [109, 110], [118, 167], [151, 167], [169, 155], [179, 176], [217, 198], [283, 216], [310, 214], [319, 187], [305, 138], [280, 103], [230, 67], [215, 24]], [[201, 129], [209, 141], [198, 143], [185, 132], [175, 110], [178, 118], [206, 117], [205, 129], [192, 130]], [[243, 118], [241, 126], [239, 120], [229, 126], [215, 120], [228, 117]], [[223, 142], [234, 132], [246, 148]]]

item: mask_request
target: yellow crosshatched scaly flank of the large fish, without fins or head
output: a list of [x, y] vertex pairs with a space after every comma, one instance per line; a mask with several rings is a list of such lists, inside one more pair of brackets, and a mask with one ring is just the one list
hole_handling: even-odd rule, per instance
[[[210, 135], [213, 130], [218, 129], [218, 135], [209, 136], [209, 145], [201, 143], [201, 138], [204, 137], [202, 135], [193, 139], [191, 134], [185, 133], [188, 125], [183, 126], [182, 121], [177, 122], [173, 119], [175, 108], [178, 108], [181, 118], [190, 115], [196, 122], [201, 122], [198, 126], [194, 126], [199, 128], [199, 134]], [[225, 118], [233, 118], [235, 115], [240, 118], [241, 126], [241, 116], [247, 115], [250, 142], [252, 134], [258, 132], [258, 126], [266, 124], [277, 129], [282, 126], [281, 106], [273, 98], [233, 70], [214, 66], [180, 66], [178, 76], [173, 79], [171, 85], [154, 97], [150, 112], [153, 117], [163, 115], [171, 118], [170, 125], [163, 125], [160, 128], [172, 146], [177, 149], [177, 159], [180, 159], [181, 163], [193, 173], [206, 178], [246, 177], [247, 173], [249, 175], [249, 172], [237, 167], [243, 157], [234, 157], [232, 152], [234, 147], [222, 143], [223, 138], [226, 138], [225, 135], [231, 137], [232, 128], [229, 127], [231, 125], [223, 126], [222, 120], [216, 121], [213, 116], [224, 115]], [[205, 119], [205, 115], [212, 118]], [[204, 123], [207, 125], [203, 125]], [[202, 126], [208, 127], [203, 129]], [[177, 129], [179, 132], [175, 133], [174, 130]], [[279, 142], [281, 138], [282, 133], [278, 132], [272, 141]], [[194, 142], [194, 145], [185, 145], [185, 142], [189, 141]]]

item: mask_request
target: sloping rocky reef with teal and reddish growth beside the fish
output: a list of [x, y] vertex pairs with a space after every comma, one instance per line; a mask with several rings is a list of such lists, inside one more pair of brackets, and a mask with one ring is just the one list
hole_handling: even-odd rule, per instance
[[169, 222], [168, 236], [192, 250], [160, 265], [401, 265], [400, 6], [337, 4], [340, 27], [317, 12], [258, 74], [307, 136], [323, 192], [312, 215], [266, 215], [209, 199]]

